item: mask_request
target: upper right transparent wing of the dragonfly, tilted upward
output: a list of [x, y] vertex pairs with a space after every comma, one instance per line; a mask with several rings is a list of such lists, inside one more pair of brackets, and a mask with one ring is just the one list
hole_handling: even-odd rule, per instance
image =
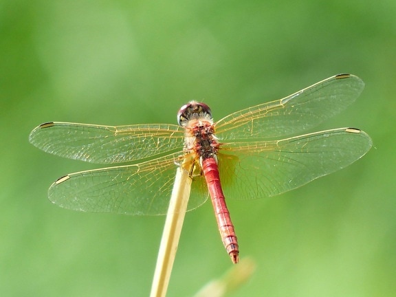
[[215, 124], [217, 137], [221, 141], [274, 139], [301, 133], [345, 109], [363, 88], [357, 76], [332, 76], [281, 100], [226, 116]]

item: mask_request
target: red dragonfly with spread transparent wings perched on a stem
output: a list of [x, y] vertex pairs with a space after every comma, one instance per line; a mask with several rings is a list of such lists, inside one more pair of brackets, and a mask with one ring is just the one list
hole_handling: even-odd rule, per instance
[[239, 244], [225, 198], [279, 195], [360, 159], [372, 146], [364, 131], [307, 130], [340, 113], [363, 88], [357, 76], [338, 74], [217, 122], [207, 104], [192, 101], [177, 113], [178, 124], [46, 122], [30, 133], [30, 142], [61, 157], [119, 164], [56, 180], [48, 197], [71, 210], [166, 214], [176, 168], [188, 170], [187, 210], [211, 198], [225, 250], [238, 263]]

